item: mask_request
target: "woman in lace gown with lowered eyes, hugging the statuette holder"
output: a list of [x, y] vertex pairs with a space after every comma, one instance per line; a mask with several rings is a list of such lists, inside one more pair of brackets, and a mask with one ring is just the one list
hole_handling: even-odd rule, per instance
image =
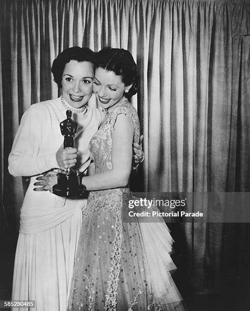
[[69, 309], [182, 309], [169, 273], [174, 264], [167, 226], [122, 222], [122, 210], [128, 208], [124, 198], [131, 196], [131, 145], [140, 135], [137, 112], [127, 99], [137, 91], [137, 77], [129, 51], [104, 48], [98, 53], [93, 91], [107, 117], [89, 143], [92, 163], [82, 183], [90, 193]]

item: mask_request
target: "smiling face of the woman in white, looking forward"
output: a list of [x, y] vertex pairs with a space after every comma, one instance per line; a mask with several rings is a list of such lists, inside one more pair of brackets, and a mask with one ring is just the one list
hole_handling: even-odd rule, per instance
[[86, 105], [92, 95], [94, 66], [89, 61], [70, 60], [62, 73], [62, 95], [74, 108]]

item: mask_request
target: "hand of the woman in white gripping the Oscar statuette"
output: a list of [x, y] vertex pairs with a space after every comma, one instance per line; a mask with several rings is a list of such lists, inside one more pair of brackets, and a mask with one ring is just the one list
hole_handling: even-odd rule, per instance
[[56, 162], [60, 169], [67, 170], [70, 167], [74, 167], [77, 158], [77, 149], [69, 148], [64, 149], [61, 146], [55, 153]]

